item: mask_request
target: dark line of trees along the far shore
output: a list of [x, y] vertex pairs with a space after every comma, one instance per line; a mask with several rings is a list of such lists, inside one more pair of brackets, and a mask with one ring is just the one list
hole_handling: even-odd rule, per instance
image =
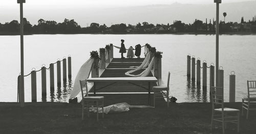
[[[62, 23], [57, 23], [54, 20], [39, 19], [37, 25], [32, 26], [29, 21], [24, 18], [24, 33], [25, 34], [78, 34], [78, 33], [215, 33], [216, 21], [211, 19], [207, 23], [202, 20], [195, 19], [193, 24], [185, 24], [180, 20], [175, 20], [173, 24], [148, 24], [147, 22], [138, 23], [136, 26], [131, 24], [115, 24], [107, 27], [105, 24], [99, 25], [91, 23], [88, 27], [80, 27], [74, 19], [64, 19]], [[245, 22], [243, 17], [241, 23], [233, 23], [220, 21], [220, 33], [237, 33], [251, 32], [256, 33], [256, 20]], [[19, 23], [17, 20], [12, 20], [10, 23], [0, 23], [0, 34], [18, 34]]]

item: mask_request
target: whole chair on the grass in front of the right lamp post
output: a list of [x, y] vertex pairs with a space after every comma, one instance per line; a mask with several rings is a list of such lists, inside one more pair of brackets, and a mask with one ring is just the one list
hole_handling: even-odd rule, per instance
[[[238, 124], [239, 132], [239, 119], [240, 119], [240, 110], [234, 108], [224, 107], [223, 95], [217, 95], [216, 91], [222, 90], [222, 87], [212, 87], [211, 91], [211, 104], [212, 104], [212, 113], [211, 113], [211, 125], [214, 121], [222, 122], [222, 133], [225, 133], [226, 123], [236, 123]], [[220, 108], [217, 106], [219, 105]]]

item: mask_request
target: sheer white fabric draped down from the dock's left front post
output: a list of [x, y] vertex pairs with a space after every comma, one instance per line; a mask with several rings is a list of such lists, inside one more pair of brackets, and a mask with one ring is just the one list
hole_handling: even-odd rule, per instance
[[73, 90], [71, 91], [70, 98], [76, 97], [81, 92], [79, 80], [85, 80], [89, 77], [93, 62], [94, 62], [94, 58], [91, 57], [81, 66], [80, 70], [76, 75], [74, 87], [73, 87]]

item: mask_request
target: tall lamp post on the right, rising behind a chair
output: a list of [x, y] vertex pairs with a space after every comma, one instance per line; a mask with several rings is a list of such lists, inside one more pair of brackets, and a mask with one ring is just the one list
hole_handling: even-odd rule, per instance
[[219, 86], [219, 4], [221, 0], [214, 0], [216, 3], [216, 86]]

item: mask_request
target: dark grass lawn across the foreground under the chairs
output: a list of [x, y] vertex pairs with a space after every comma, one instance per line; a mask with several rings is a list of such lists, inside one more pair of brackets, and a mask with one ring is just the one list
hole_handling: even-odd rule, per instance
[[[104, 96], [105, 106], [122, 101], [134, 105], [140, 100], [132, 95]], [[225, 103], [225, 107], [241, 109], [241, 102]], [[210, 131], [210, 115], [211, 103], [170, 103], [167, 108], [159, 100], [156, 108], [131, 108], [104, 115], [104, 119], [99, 115], [97, 122], [96, 114], [81, 121], [79, 103], [39, 102], [25, 107], [0, 103], [0, 133], [222, 133], [219, 122]], [[248, 120], [241, 117], [240, 128], [240, 133], [256, 133], [255, 111]], [[237, 133], [236, 124], [227, 124], [226, 133]]]

